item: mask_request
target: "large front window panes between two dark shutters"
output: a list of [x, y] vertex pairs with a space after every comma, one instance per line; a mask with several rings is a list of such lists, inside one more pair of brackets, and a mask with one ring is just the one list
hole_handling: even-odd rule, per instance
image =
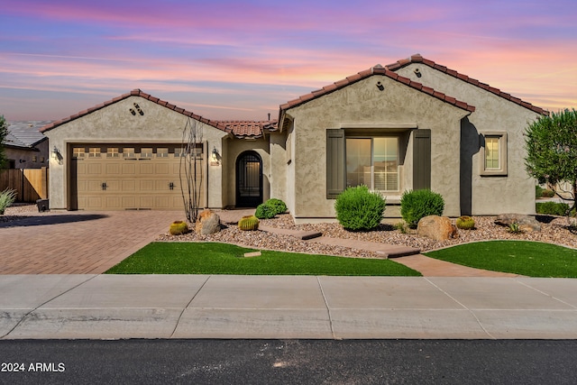
[[398, 191], [398, 138], [346, 138], [346, 185]]

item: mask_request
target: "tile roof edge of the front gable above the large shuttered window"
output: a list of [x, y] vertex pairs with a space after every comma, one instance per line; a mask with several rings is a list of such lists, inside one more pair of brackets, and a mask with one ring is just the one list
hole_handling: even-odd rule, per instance
[[356, 83], [359, 80], [362, 80], [364, 78], [369, 78], [373, 75], [384, 75], [387, 78], [392, 78], [393, 80], [396, 80], [399, 83], [403, 83], [403, 84], [407, 85], [408, 87], [415, 88], [418, 91], [421, 91], [421, 92], [424, 92], [430, 96], [436, 97], [437, 99], [440, 99], [440, 100], [442, 100], [445, 103], [448, 103], [450, 105], [455, 105], [459, 108], [463, 108], [464, 110], [467, 110], [470, 112], [475, 111], [475, 107], [473, 105], [468, 105], [467, 103], [462, 102], [460, 100], [457, 100], [454, 97], [446, 96], [442, 92], [437, 92], [433, 88], [425, 87], [421, 83], [413, 81], [409, 78], [402, 77], [402, 76], [398, 75], [396, 72], [393, 72], [387, 68], [382, 67], [380, 64], [377, 64], [376, 66], [372, 67], [371, 69], [365, 69], [364, 71], [361, 71], [357, 74], [354, 74], [348, 78], [344, 78], [343, 80], [336, 81], [336, 82], [334, 82], [334, 84], [325, 86], [325, 87], [318, 89], [316, 91], [313, 91], [309, 94], [299, 96], [297, 99], [290, 100], [289, 102], [285, 103], [284, 105], [280, 105], [280, 114], [282, 115], [282, 113], [285, 110], [288, 110], [289, 108], [296, 107], [297, 105], [302, 105], [311, 99], [329, 94], [331, 92], [334, 92], [337, 89], [349, 86], [353, 83]]

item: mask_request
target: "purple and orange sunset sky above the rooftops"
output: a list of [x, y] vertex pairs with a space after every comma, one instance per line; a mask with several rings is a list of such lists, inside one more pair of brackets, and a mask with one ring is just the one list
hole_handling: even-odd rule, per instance
[[2, 0], [0, 115], [58, 120], [134, 88], [209, 119], [420, 53], [577, 108], [575, 0]]

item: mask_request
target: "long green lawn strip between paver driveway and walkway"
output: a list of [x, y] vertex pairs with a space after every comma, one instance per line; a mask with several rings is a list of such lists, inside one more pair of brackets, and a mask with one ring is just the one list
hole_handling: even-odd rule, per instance
[[254, 251], [228, 243], [150, 243], [106, 274], [421, 275], [390, 260], [264, 250], [261, 256], [243, 257]]

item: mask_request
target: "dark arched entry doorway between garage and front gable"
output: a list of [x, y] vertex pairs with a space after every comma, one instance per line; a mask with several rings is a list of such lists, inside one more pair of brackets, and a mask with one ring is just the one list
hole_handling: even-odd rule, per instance
[[236, 160], [236, 206], [262, 203], [262, 159], [255, 151], [244, 151]]

